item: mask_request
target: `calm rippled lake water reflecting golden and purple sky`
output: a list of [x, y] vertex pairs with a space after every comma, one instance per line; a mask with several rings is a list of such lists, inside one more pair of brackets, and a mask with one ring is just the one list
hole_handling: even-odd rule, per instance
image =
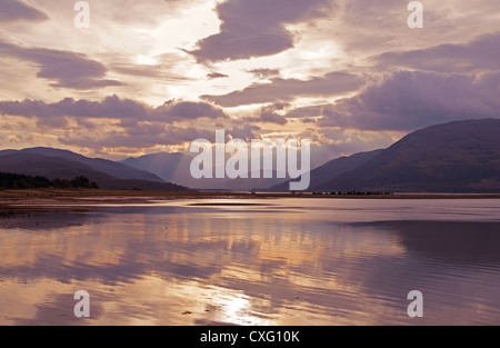
[[0, 218], [0, 325], [500, 325], [499, 212], [276, 199]]

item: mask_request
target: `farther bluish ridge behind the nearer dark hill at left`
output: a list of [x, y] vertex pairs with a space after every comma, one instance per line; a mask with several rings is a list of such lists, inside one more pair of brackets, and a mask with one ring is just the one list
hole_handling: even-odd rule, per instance
[[[157, 181], [163, 182], [161, 178], [158, 176], [144, 171], [138, 170], [137, 168], [132, 168], [126, 166], [123, 163], [100, 159], [100, 158], [88, 158], [68, 150], [52, 149], [52, 148], [31, 148], [24, 150], [3, 150], [0, 151], [0, 159], [3, 156], [9, 155], [39, 155], [51, 158], [66, 159], [73, 162], [78, 162], [80, 165], [84, 165], [87, 169], [91, 169], [93, 171], [117, 178], [117, 179], [128, 179], [128, 180], [146, 180], [146, 181]], [[78, 167], [78, 166], [77, 166]], [[76, 167], [76, 168], [77, 168]], [[67, 168], [71, 169], [71, 168]], [[61, 171], [60, 171], [61, 172]], [[63, 171], [62, 171], [63, 172]], [[66, 176], [66, 172], [63, 172]]]

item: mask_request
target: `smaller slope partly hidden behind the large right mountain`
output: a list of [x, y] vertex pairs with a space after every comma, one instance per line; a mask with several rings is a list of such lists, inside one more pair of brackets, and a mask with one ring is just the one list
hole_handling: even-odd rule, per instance
[[[361, 167], [370, 159], [379, 155], [381, 151], [382, 150], [374, 150], [371, 152], [356, 153], [350, 157], [341, 157], [329, 161], [317, 169], [311, 170], [311, 185], [309, 186], [310, 190], [313, 190], [313, 188], [322, 188], [328, 181], [332, 180], [333, 178], [337, 178], [344, 172]], [[290, 191], [290, 181], [298, 180], [281, 182], [280, 185], [277, 185], [269, 190], [273, 192], [288, 192]]]

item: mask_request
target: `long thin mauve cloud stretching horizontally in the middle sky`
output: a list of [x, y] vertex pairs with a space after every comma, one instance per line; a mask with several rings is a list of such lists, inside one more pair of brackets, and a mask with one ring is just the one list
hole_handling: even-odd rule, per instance
[[309, 80], [276, 78], [271, 83], [254, 83], [223, 96], [202, 96], [224, 108], [253, 103], [287, 102], [298, 97], [329, 97], [358, 89], [362, 79], [347, 72], [330, 72]]

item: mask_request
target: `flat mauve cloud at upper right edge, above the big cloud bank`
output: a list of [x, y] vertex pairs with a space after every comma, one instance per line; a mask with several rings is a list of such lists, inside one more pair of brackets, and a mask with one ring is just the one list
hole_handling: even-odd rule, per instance
[[500, 70], [500, 32], [470, 43], [439, 44], [406, 52], [387, 52], [378, 57], [384, 68], [410, 68], [438, 72]]

